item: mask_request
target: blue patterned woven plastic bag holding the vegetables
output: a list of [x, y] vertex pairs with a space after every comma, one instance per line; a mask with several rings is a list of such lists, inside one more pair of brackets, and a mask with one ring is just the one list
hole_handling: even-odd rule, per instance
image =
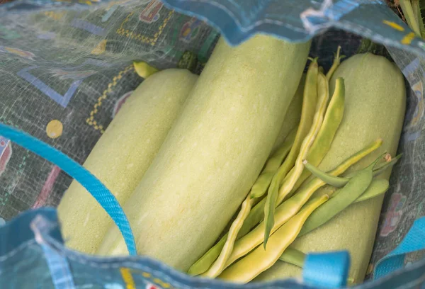
[[[28, 132], [82, 164], [143, 80], [133, 61], [159, 69], [176, 67], [183, 65], [183, 55], [190, 51], [198, 57], [191, 69], [199, 73], [220, 33], [237, 45], [259, 32], [289, 41], [317, 35], [310, 53], [319, 56], [325, 68], [337, 45], [342, 45], [344, 54], [353, 55], [361, 37], [370, 38], [386, 45], [412, 87], [399, 144], [404, 157], [393, 170], [382, 207], [373, 268], [424, 215], [420, 148], [425, 44], [381, 1], [18, 0], [3, 4], [0, 123]], [[98, 259], [64, 248], [55, 210], [30, 210], [59, 203], [72, 181], [63, 169], [0, 136], [0, 216], [8, 221], [0, 228], [1, 288], [239, 288], [190, 278], [142, 256]], [[421, 251], [403, 255], [403, 263], [417, 262], [358, 288], [413, 288], [423, 282], [421, 257]], [[310, 285], [277, 280], [244, 288]]]

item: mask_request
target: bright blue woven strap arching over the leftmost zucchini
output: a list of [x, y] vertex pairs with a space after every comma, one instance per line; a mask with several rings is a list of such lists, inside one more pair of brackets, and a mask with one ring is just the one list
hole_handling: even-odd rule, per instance
[[129, 254], [137, 255], [135, 238], [123, 208], [121, 208], [120, 203], [118, 203], [118, 200], [113, 196], [111, 191], [109, 191], [96, 176], [84, 169], [83, 166], [66, 154], [28, 135], [26, 132], [16, 130], [15, 128], [0, 123], [0, 135], [7, 137], [17, 145], [56, 164], [60, 169], [69, 174], [69, 176], [72, 176], [72, 178], [81, 183], [81, 186], [84, 186], [84, 188], [91, 193], [91, 196], [98, 201], [103, 210], [106, 210], [108, 215], [111, 216], [112, 220], [118, 226], [121, 234], [123, 234], [125, 244], [127, 244]]

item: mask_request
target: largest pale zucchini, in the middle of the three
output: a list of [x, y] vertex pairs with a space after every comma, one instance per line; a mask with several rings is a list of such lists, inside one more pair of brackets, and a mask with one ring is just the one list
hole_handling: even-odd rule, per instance
[[[187, 106], [125, 203], [139, 254], [187, 271], [219, 237], [283, 125], [310, 42], [220, 39]], [[128, 254], [116, 227], [98, 254]]]

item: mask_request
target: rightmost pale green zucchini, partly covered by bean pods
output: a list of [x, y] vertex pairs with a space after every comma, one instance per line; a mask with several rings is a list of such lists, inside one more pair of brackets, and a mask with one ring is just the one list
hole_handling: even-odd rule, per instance
[[[342, 62], [331, 78], [331, 91], [337, 77], [346, 86], [344, 118], [331, 149], [319, 165], [325, 171], [346, 157], [381, 137], [382, 146], [352, 169], [373, 162], [383, 152], [395, 156], [402, 132], [406, 106], [406, 89], [402, 72], [385, 57], [370, 53], [354, 55]], [[389, 179], [388, 169], [380, 178]], [[324, 188], [317, 193], [325, 193]], [[348, 250], [351, 254], [349, 276], [360, 283], [373, 249], [383, 196], [350, 205], [327, 224], [297, 239], [295, 249], [309, 251]], [[301, 269], [278, 261], [255, 281], [301, 275]]]

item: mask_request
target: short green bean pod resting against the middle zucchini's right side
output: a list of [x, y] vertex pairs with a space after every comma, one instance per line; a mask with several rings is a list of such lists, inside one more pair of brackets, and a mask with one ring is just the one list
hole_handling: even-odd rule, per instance
[[283, 159], [285, 159], [291, 147], [293, 147], [296, 132], [297, 130], [293, 129], [288, 137], [286, 137], [283, 145], [267, 160], [263, 171], [261, 171], [259, 178], [251, 188], [251, 198], [260, 198], [266, 193], [274, 174], [276, 174]]

